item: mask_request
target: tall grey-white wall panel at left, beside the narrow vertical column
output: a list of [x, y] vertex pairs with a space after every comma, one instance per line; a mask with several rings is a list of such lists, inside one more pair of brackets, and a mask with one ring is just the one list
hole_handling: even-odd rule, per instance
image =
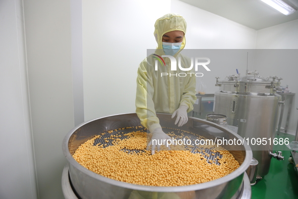
[[63, 198], [62, 141], [74, 127], [70, 1], [24, 1], [39, 198]]

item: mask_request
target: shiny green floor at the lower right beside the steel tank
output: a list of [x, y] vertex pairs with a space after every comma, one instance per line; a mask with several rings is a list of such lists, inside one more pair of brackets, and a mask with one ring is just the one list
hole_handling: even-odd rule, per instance
[[[289, 138], [289, 141], [294, 139], [293, 135], [285, 133], [280, 133], [276, 137]], [[273, 150], [275, 150], [274, 147]], [[288, 161], [291, 151], [285, 145], [278, 150], [282, 151], [284, 160], [271, 159], [269, 173], [259, 180], [256, 185], [252, 186], [252, 199], [298, 199], [298, 175], [294, 170], [294, 165]], [[273, 152], [275, 153], [275, 151]]]

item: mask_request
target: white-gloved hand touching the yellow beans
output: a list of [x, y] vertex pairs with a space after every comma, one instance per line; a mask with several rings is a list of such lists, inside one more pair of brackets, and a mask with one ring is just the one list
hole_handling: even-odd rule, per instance
[[[150, 142], [147, 145], [147, 150], [149, 150], [149, 146], [152, 145], [151, 148], [151, 155], [155, 154], [155, 146], [157, 146], [157, 151], [160, 149], [160, 144], [162, 143], [163, 145], [167, 144], [167, 140], [171, 140], [172, 138], [165, 134], [161, 128], [156, 128], [153, 130], [152, 137]], [[154, 141], [153, 141], [154, 140]], [[170, 150], [170, 147], [168, 146], [168, 149]]]

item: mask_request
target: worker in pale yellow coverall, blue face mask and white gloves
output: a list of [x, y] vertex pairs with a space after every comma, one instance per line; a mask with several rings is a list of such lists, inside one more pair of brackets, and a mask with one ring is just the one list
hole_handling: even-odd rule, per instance
[[[186, 71], [176, 67], [176, 71], [171, 71], [170, 58], [162, 58], [162, 55], [172, 56], [177, 64], [178, 61], [181, 62], [182, 68], [190, 68], [191, 60], [180, 54], [186, 44], [185, 19], [178, 14], [166, 14], [157, 19], [154, 26], [154, 36], [158, 45], [155, 53], [145, 58], [139, 65], [136, 94], [136, 113], [141, 124], [152, 133], [148, 144], [152, 145], [152, 155], [155, 153], [153, 139], [171, 139], [163, 132], [156, 113], [169, 113], [172, 114], [172, 118], [176, 116], [173, 122], [180, 127], [187, 123], [187, 113], [193, 110], [193, 104], [197, 99], [194, 69]], [[158, 58], [156, 70], [155, 60]], [[179, 73], [186, 73], [187, 76], [174, 75]]]

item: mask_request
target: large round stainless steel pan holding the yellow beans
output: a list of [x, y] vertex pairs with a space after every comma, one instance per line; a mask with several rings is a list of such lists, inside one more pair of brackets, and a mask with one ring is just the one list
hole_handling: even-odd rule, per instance
[[[157, 114], [157, 117], [162, 127], [178, 128], [173, 125], [174, 119], [171, 119], [171, 115]], [[70, 181], [79, 197], [130, 198], [132, 192], [138, 192], [140, 195], [151, 195], [150, 198], [153, 198], [152, 195], [157, 196], [156, 198], [161, 198], [158, 195], [163, 195], [162, 198], [174, 198], [171, 194], [180, 195], [175, 198], [183, 198], [181, 195], [185, 195], [187, 198], [232, 198], [242, 186], [244, 173], [252, 160], [252, 151], [246, 142], [240, 145], [222, 144], [240, 163], [239, 168], [219, 179], [188, 186], [144, 186], [121, 182], [98, 175], [73, 159], [72, 155], [76, 149], [95, 135], [132, 126], [141, 126], [137, 114], [113, 115], [82, 123], [65, 136], [63, 152], [69, 162]], [[190, 117], [187, 124], [179, 129], [204, 136], [207, 139], [243, 140], [242, 137], [227, 128], [198, 118]]]

